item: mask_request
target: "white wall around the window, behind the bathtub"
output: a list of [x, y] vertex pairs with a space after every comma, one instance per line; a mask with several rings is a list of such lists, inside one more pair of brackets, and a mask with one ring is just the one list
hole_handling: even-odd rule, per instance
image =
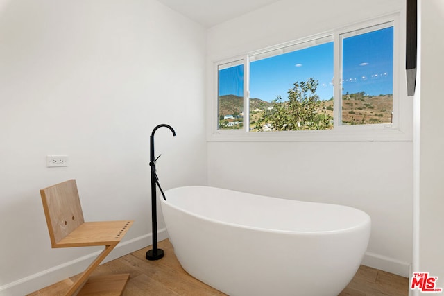
[[[212, 71], [218, 60], [396, 11], [404, 20], [403, 0], [283, 0], [214, 26], [207, 37], [207, 98], [214, 99]], [[400, 38], [403, 44], [403, 36]], [[396, 58], [402, 67], [404, 46], [400, 47]], [[401, 100], [409, 105], [407, 128], [411, 130], [412, 99], [407, 98], [404, 71], [401, 73]], [[208, 182], [212, 186], [363, 209], [373, 221], [364, 264], [409, 275], [413, 223], [411, 141], [210, 141], [207, 147]]]

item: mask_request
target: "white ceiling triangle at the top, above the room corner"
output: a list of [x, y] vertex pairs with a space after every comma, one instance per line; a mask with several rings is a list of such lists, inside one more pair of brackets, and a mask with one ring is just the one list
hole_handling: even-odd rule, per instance
[[210, 28], [280, 0], [158, 0]]

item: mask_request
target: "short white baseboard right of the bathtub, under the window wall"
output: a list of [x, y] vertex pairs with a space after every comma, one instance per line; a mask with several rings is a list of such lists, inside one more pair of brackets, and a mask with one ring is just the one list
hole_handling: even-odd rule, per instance
[[395, 275], [400, 275], [401, 277], [409, 277], [410, 275], [410, 263], [374, 254], [372, 252], [366, 252], [364, 259], [362, 260], [362, 265], [391, 272]]

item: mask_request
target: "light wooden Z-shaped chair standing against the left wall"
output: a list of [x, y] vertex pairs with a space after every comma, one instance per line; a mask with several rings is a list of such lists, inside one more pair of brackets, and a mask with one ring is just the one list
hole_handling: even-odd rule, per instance
[[133, 220], [85, 222], [76, 180], [49, 186], [40, 190], [40, 195], [52, 247], [105, 246], [65, 295], [121, 295], [129, 274], [90, 279], [89, 275], [121, 241]]

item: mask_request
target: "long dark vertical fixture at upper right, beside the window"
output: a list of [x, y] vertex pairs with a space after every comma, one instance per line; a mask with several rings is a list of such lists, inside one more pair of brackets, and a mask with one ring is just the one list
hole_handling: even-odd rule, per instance
[[418, 0], [407, 0], [406, 10], [405, 70], [407, 76], [407, 96], [413, 96], [416, 88]]

